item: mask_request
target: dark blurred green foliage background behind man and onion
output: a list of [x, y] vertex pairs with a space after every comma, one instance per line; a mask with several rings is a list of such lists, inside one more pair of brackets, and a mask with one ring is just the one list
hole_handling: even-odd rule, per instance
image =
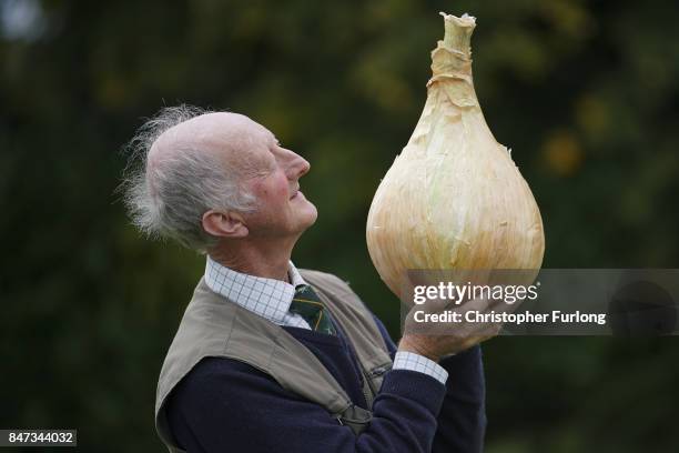
[[[442, 10], [477, 17], [476, 90], [541, 209], [544, 266], [678, 268], [676, 2], [0, 0], [0, 427], [163, 451], [156, 376], [204, 259], [141, 238], [114, 194], [162, 105], [245, 113], [310, 160], [320, 218], [293, 259], [397, 338], [364, 229]], [[675, 338], [489, 341], [487, 451], [677, 451], [678, 359]]]

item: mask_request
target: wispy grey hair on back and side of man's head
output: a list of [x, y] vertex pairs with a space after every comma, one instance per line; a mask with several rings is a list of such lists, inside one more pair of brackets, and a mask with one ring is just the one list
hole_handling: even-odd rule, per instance
[[148, 157], [163, 132], [205, 113], [211, 112], [182, 104], [164, 108], [146, 121], [125, 147], [130, 157], [119, 188], [132, 223], [142, 233], [174, 239], [200, 253], [219, 240], [203, 229], [203, 214], [211, 209], [252, 212], [254, 195], [241, 187], [236, 170], [229, 171], [212, 152], [181, 144], [179, 152], [151, 168]]

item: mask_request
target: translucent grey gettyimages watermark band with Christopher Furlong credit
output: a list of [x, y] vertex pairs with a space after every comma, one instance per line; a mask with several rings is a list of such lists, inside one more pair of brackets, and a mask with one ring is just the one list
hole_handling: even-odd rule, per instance
[[[671, 335], [676, 269], [408, 271], [402, 328], [464, 335], [472, 324], [515, 335]], [[479, 325], [476, 325], [477, 328]]]

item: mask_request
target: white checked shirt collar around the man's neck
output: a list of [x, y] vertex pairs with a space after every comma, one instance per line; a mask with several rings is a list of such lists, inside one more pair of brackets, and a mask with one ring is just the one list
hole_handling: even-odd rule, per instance
[[284, 316], [288, 314], [295, 288], [306, 284], [292, 261], [287, 265], [287, 275], [292, 284], [236, 272], [210, 256], [206, 261], [205, 283], [207, 288], [277, 324], [282, 323]]

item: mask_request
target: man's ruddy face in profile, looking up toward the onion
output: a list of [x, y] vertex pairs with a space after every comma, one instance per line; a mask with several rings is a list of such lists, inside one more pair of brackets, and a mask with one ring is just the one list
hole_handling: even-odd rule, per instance
[[249, 120], [245, 159], [249, 161], [245, 187], [256, 197], [254, 213], [244, 214], [251, 238], [298, 236], [317, 217], [314, 207], [300, 191], [300, 178], [310, 164], [283, 148], [266, 128]]

